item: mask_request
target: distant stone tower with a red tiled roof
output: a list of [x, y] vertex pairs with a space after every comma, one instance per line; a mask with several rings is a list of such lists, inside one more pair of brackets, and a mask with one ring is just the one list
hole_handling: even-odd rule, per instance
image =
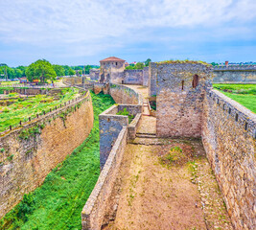
[[122, 83], [124, 80], [125, 60], [115, 57], [100, 60], [101, 82]]

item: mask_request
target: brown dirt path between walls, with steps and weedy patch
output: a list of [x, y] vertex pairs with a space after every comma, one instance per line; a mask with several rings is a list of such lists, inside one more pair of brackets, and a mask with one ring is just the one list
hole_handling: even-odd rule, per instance
[[155, 125], [144, 109], [119, 173], [116, 217], [105, 229], [233, 229], [200, 140], [159, 139]]

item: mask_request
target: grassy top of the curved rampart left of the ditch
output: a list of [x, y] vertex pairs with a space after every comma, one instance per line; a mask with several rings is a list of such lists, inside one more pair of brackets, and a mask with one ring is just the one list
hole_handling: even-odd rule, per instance
[[[49, 112], [59, 104], [63, 104], [78, 96], [79, 90], [77, 88], [63, 88], [61, 93], [55, 96], [36, 95], [33, 98], [19, 98], [11, 99], [9, 106], [0, 105], [0, 132], [6, 130], [10, 126], [17, 126], [19, 122], [29, 121], [36, 117], [36, 114], [43, 114]], [[10, 96], [17, 96], [11, 94]], [[0, 99], [1, 102], [1, 99]]]

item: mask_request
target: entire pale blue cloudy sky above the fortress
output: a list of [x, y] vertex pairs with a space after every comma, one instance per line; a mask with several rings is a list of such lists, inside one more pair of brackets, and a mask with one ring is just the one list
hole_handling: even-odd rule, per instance
[[0, 0], [0, 63], [256, 61], [255, 0]]

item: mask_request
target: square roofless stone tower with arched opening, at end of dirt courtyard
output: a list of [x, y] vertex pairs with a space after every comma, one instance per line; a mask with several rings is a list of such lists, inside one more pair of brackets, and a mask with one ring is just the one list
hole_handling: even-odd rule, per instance
[[[201, 136], [205, 86], [211, 81], [211, 67], [194, 63], [153, 63], [156, 72], [156, 135]], [[198, 75], [198, 86], [193, 87]]]

